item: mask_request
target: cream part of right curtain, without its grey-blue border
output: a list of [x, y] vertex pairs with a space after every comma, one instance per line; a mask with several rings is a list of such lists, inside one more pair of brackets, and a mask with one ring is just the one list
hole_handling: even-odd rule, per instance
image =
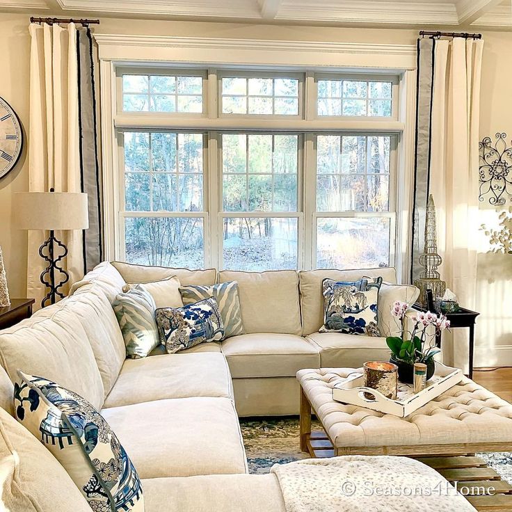
[[[442, 279], [474, 309], [477, 294], [479, 111], [483, 40], [434, 45], [429, 189], [437, 209]], [[467, 332], [443, 339], [445, 362], [467, 371]]]

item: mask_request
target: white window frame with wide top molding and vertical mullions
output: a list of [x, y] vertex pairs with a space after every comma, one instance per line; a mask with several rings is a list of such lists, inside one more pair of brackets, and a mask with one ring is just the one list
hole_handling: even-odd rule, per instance
[[[109, 259], [122, 257], [121, 249], [124, 244], [120, 237], [120, 184], [121, 176], [118, 172], [122, 169], [118, 154], [119, 131], [123, 129], [139, 129], [141, 131], [151, 129], [164, 129], [168, 131], [205, 131], [207, 133], [207, 147], [205, 157], [205, 197], [204, 204], [207, 211], [200, 216], [205, 219], [205, 267], [220, 267], [221, 246], [218, 243], [221, 237], [222, 223], [221, 205], [218, 191], [221, 183], [221, 168], [218, 158], [218, 131], [288, 131], [290, 133], [304, 133], [303, 155], [300, 159], [305, 170], [299, 179], [302, 193], [298, 198], [298, 204], [303, 201], [301, 211], [294, 214], [298, 216], [298, 268], [314, 268], [316, 257], [315, 216], [326, 216], [326, 212], [316, 212], [316, 187], [315, 193], [305, 194], [304, 191], [316, 184], [316, 159], [312, 147], [312, 133], [335, 131], [353, 131], [365, 134], [386, 133], [397, 134], [397, 186], [399, 204], [396, 211], [397, 243], [394, 248], [395, 261], [399, 276], [404, 280], [408, 275], [408, 237], [410, 234], [410, 189], [412, 179], [410, 169], [413, 163], [414, 141], [414, 112], [415, 112], [415, 47], [413, 45], [366, 45], [360, 43], [317, 43], [317, 42], [284, 42], [284, 41], [259, 41], [259, 40], [221, 40], [204, 38], [173, 38], [173, 37], [146, 37], [131, 35], [96, 35], [99, 45], [100, 71], [102, 77], [102, 163], [104, 169], [104, 193], [106, 204], [111, 205], [105, 211], [105, 239], [106, 256]], [[218, 61], [218, 51], [223, 50], [222, 61]], [[214, 60], [215, 59], [215, 60]], [[218, 81], [217, 74], [224, 70], [240, 69], [240, 63], [244, 63], [246, 72], [257, 70], [264, 72], [304, 73], [304, 86], [314, 86], [315, 73], [351, 72], [355, 75], [364, 74], [365, 79], [369, 74], [376, 74], [383, 78], [383, 74], [399, 77], [397, 89], [399, 96], [394, 95], [396, 102], [400, 97], [402, 102], [395, 103], [397, 118], [330, 118], [316, 115], [316, 104], [312, 104], [312, 95], [305, 95], [309, 101], [303, 105], [303, 118], [291, 119], [295, 116], [277, 115], [231, 115], [223, 118], [218, 114], [219, 98], [216, 96], [218, 87], [212, 86], [213, 80]], [[154, 69], [154, 65], [159, 70]], [[141, 72], [148, 68], [162, 74], [161, 67], [172, 68], [170, 74], [177, 74], [177, 70], [189, 71], [191, 68], [208, 68], [207, 86], [203, 87], [204, 100], [203, 115], [193, 118], [193, 114], [183, 113], [120, 113], [116, 108], [118, 101], [118, 89], [115, 86], [117, 71], [129, 67], [134, 72], [134, 67], [140, 67]], [[215, 67], [213, 67], [215, 66]], [[191, 72], [193, 74], [195, 70]], [[209, 102], [209, 103], [207, 103]], [[300, 102], [301, 103], [301, 102]], [[314, 107], [314, 108], [313, 108]], [[213, 114], [215, 113], [215, 115]], [[197, 115], [197, 114], [196, 114]], [[235, 120], [235, 117], [238, 119]], [[271, 119], [264, 119], [271, 118]], [[284, 119], [277, 119], [284, 118]], [[308, 165], [309, 164], [309, 165]], [[113, 172], [115, 171], [115, 172]], [[210, 212], [210, 213], [209, 213]], [[213, 215], [211, 212], [218, 212]], [[166, 216], [185, 216], [187, 212], [172, 212]], [[247, 216], [255, 217], [257, 212], [246, 212]], [[278, 217], [289, 212], [268, 212], [264, 216]], [[135, 214], [132, 216], [138, 216]], [[198, 216], [196, 212], [193, 215]], [[241, 212], [225, 212], [223, 215], [241, 216]], [[339, 216], [339, 212], [336, 212]], [[378, 214], [383, 216], [383, 214]], [[163, 216], [163, 214], [162, 214]], [[220, 227], [219, 227], [220, 226]], [[314, 229], [313, 229], [314, 228]], [[217, 247], [217, 251], [211, 249]], [[311, 250], [305, 248], [310, 247]]]

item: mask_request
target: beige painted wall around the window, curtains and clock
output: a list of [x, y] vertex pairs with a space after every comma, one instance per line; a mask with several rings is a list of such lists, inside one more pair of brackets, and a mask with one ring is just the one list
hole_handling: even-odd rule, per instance
[[[0, 14], [0, 96], [19, 114], [25, 131], [29, 129], [29, 16]], [[346, 29], [334, 27], [264, 26], [204, 22], [165, 22], [102, 18], [99, 33], [140, 33], [218, 38], [264, 38], [275, 40], [314, 40], [383, 42], [413, 44], [415, 29]], [[483, 54], [481, 138], [506, 131], [512, 138], [512, 34], [486, 32]], [[10, 225], [12, 193], [26, 190], [28, 167], [26, 149], [17, 168], [0, 180], [0, 245], [6, 259], [12, 296], [24, 296], [26, 287], [26, 234]], [[493, 211], [483, 211], [482, 221], [493, 221]], [[510, 256], [488, 255], [482, 238], [479, 255], [479, 298], [482, 312], [477, 329], [477, 364], [492, 365], [501, 357], [512, 365], [512, 319], [506, 310], [506, 289], [512, 288]], [[509, 291], [510, 293], [510, 291]], [[511, 351], [488, 351], [493, 346], [511, 346]], [[498, 355], [499, 354], [499, 355]]]

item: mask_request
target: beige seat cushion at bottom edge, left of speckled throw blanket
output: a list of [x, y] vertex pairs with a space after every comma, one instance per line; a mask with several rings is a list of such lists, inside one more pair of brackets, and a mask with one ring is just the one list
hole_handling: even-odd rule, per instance
[[143, 481], [145, 512], [285, 512], [274, 474], [210, 474]]

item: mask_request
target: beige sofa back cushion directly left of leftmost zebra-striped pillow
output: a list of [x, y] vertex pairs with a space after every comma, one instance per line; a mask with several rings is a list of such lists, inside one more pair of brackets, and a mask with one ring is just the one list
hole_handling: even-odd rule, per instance
[[[61, 301], [59, 305], [61, 314], [78, 319], [83, 326], [93, 348], [106, 397], [126, 359], [125, 340], [109, 299], [98, 287], [86, 285], [78, 294]], [[44, 372], [42, 375], [47, 376]], [[52, 380], [61, 383], [58, 378]]]

